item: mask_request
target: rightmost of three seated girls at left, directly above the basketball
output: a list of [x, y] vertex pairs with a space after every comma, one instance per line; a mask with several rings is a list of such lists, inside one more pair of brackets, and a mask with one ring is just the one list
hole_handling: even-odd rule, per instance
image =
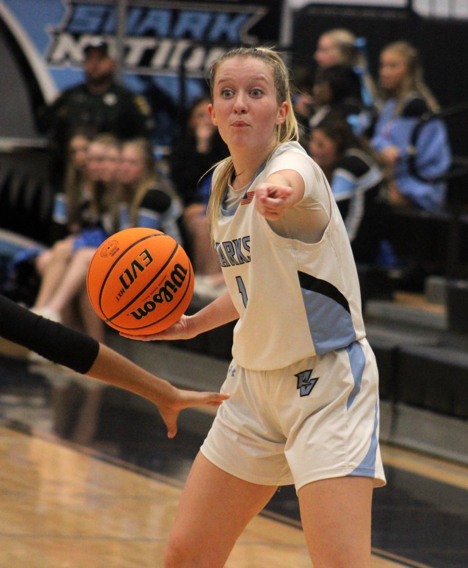
[[147, 139], [137, 138], [122, 145], [119, 181], [116, 228], [157, 229], [182, 243], [182, 204], [169, 181], [158, 173], [152, 144]]

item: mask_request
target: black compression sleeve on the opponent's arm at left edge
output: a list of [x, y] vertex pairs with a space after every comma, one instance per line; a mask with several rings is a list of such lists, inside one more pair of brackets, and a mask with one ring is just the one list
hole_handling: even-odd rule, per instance
[[91, 337], [41, 318], [2, 295], [0, 336], [83, 374], [91, 369], [99, 352], [99, 343]]

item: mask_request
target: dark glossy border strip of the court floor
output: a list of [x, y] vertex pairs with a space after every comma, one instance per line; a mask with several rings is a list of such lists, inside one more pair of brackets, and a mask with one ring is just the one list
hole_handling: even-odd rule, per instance
[[[128, 408], [113, 404], [106, 392], [62, 367], [44, 372], [41, 365], [0, 357], [2, 423], [60, 436], [182, 485], [203, 436], [181, 427], [169, 440], [154, 412], [135, 399]], [[398, 467], [387, 466], [386, 475], [387, 486], [374, 492], [375, 548], [410, 559], [408, 566], [466, 568], [468, 491]], [[294, 487], [277, 491], [268, 509], [298, 523]]]

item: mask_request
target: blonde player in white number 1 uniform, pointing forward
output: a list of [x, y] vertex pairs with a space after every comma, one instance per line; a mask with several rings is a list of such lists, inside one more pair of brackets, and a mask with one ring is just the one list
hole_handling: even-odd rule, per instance
[[209, 211], [228, 293], [139, 339], [238, 319], [223, 403], [179, 504], [165, 567], [221, 568], [279, 485], [294, 483], [315, 568], [370, 562], [371, 496], [385, 484], [378, 375], [346, 229], [296, 139], [277, 53], [239, 48], [211, 69], [211, 118], [231, 156]]

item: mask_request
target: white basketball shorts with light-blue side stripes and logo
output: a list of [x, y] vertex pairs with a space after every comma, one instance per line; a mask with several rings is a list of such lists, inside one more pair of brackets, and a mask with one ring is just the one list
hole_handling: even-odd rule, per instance
[[201, 452], [214, 465], [260, 485], [296, 491], [346, 475], [385, 485], [379, 450], [378, 371], [366, 339], [298, 361], [253, 371], [232, 361]]

